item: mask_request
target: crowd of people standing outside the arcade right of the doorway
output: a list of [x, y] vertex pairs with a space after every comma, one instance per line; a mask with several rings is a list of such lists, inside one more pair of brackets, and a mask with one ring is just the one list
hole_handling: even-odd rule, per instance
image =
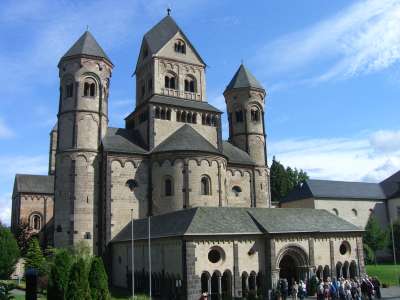
[[376, 277], [332, 280], [328, 277], [317, 286], [317, 300], [371, 300], [380, 299], [380, 282]]

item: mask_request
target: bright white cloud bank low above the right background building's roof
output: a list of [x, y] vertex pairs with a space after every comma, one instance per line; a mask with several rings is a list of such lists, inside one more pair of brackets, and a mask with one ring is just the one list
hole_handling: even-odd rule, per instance
[[353, 138], [287, 139], [270, 142], [269, 154], [284, 165], [307, 171], [311, 178], [380, 181], [400, 169], [400, 146], [395, 146], [399, 140], [396, 131]]

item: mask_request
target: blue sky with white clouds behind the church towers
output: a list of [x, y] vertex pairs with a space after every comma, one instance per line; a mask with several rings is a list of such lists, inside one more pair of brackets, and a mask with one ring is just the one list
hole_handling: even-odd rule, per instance
[[[10, 222], [15, 174], [47, 173], [61, 56], [88, 27], [115, 65], [110, 126], [123, 127], [142, 36], [167, 7], [207, 63], [211, 104], [225, 110], [222, 93], [242, 61], [267, 90], [269, 163], [346, 181], [399, 170], [400, 0], [247, 3], [3, 0], [0, 221]], [[225, 138], [227, 128], [225, 118]]]

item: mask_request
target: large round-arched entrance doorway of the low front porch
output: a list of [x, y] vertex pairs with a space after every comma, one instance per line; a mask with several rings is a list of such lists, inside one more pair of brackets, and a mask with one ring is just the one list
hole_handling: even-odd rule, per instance
[[308, 256], [300, 246], [287, 246], [279, 252], [277, 258], [279, 278], [287, 279], [289, 290], [294, 281], [306, 279], [305, 270], [309, 267]]

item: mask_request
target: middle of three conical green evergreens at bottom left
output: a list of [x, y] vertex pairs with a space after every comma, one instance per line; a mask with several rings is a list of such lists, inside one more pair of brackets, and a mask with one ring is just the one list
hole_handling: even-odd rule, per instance
[[88, 281], [88, 272], [85, 260], [80, 258], [71, 267], [68, 278], [68, 287], [66, 292], [68, 300], [91, 300]]

